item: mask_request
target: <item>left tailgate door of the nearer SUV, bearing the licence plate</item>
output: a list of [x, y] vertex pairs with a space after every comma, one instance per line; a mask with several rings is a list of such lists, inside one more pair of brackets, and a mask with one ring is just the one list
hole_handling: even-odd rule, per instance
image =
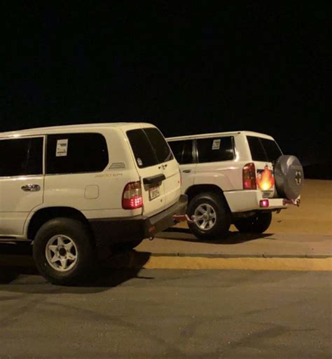
[[145, 129], [127, 130], [126, 134], [141, 178], [143, 213], [151, 217], [167, 208], [162, 163], [158, 161]]

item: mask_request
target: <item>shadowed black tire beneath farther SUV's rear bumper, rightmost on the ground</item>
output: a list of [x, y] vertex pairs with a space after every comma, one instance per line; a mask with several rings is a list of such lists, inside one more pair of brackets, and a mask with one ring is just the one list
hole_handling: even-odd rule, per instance
[[271, 224], [271, 212], [256, 212], [254, 216], [235, 219], [234, 225], [242, 233], [263, 233]]

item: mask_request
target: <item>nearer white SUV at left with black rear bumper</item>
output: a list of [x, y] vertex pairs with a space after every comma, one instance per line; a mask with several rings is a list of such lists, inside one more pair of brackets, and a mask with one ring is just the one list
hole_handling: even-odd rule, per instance
[[110, 245], [134, 248], [186, 213], [179, 165], [148, 123], [0, 133], [0, 241], [33, 241], [53, 283]]

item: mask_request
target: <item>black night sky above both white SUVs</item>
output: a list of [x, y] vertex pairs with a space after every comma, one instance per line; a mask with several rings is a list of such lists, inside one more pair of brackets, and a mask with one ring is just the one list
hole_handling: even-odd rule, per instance
[[303, 164], [332, 162], [327, 3], [7, 3], [0, 132], [114, 121], [167, 136], [255, 130]]

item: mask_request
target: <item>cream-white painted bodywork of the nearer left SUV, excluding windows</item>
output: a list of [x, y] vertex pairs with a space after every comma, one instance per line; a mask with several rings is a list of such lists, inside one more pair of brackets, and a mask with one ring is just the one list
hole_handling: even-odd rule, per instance
[[[74, 208], [87, 219], [125, 218], [142, 214], [151, 217], [179, 201], [180, 173], [175, 159], [148, 168], [137, 167], [126, 136], [127, 130], [137, 128], [154, 126], [148, 123], [100, 123], [0, 133], [0, 141], [62, 133], [99, 133], [105, 137], [109, 150], [109, 163], [101, 172], [48, 174], [45, 168], [44, 144], [42, 175], [0, 177], [0, 237], [27, 238], [30, 220], [34, 213], [43, 208]], [[85, 156], [88, 150], [87, 144], [87, 147], [82, 149], [82, 156]], [[161, 184], [160, 196], [149, 201], [148, 189], [144, 189], [142, 183], [143, 208], [123, 209], [122, 196], [126, 184], [142, 182], [144, 177], [158, 174], [164, 174], [166, 177]], [[22, 191], [20, 188], [26, 184], [38, 184], [41, 190]]]

